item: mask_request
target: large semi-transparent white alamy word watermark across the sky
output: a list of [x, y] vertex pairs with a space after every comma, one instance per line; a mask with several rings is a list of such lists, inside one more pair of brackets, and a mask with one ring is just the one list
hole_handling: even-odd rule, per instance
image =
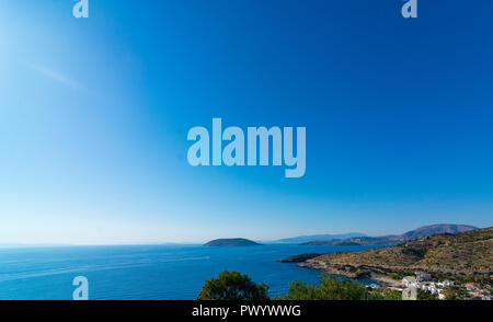
[[[286, 177], [301, 177], [307, 169], [307, 129], [296, 128], [296, 156], [294, 151], [294, 128], [274, 126], [249, 127], [246, 129], [246, 160], [245, 160], [245, 135], [239, 127], [231, 126], [222, 130], [222, 119], [213, 118], [213, 158], [210, 160], [210, 136], [205, 127], [193, 127], [188, 131], [187, 139], [195, 141], [188, 149], [188, 163], [193, 166], [215, 165], [272, 165], [286, 169]], [[222, 142], [227, 145], [222, 148]], [[272, 142], [272, 145], [271, 145]], [[270, 147], [272, 146], [272, 153]], [[259, 149], [257, 149], [259, 148]], [[284, 152], [284, 153], [283, 153]], [[259, 158], [257, 158], [259, 154]], [[272, 156], [271, 156], [272, 154]], [[272, 157], [272, 158], [271, 158]]]

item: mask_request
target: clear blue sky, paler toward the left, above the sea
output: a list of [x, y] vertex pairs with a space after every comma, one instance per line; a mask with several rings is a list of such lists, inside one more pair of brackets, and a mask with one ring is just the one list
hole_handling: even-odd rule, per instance
[[[492, 226], [492, 1], [73, 4], [0, 3], [0, 243]], [[306, 126], [306, 175], [190, 166], [213, 117]]]

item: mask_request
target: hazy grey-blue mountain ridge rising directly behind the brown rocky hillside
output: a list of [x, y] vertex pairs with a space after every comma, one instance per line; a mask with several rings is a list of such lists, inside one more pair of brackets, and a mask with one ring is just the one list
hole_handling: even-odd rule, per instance
[[473, 226], [442, 223], [432, 225], [408, 231], [402, 234], [391, 234], [381, 237], [352, 237], [332, 240], [312, 240], [302, 242], [303, 245], [398, 245], [405, 241], [412, 241], [437, 233], [457, 233], [478, 229]]

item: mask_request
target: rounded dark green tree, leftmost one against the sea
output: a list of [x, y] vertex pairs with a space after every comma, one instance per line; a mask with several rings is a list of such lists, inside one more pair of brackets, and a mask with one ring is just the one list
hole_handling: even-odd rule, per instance
[[268, 286], [253, 283], [248, 275], [225, 271], [206, 280], [197, 300], [268, 300]]

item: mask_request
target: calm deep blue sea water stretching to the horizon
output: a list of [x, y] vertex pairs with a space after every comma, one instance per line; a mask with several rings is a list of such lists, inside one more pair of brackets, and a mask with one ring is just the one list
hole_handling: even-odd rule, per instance
[[278, 263], [302, 253], [358, 251], [362, 246], [267, 244], [251, 248], [133, 245], [0, 249], [0, 300], [69, 300], [72, 279], [89, 279], [90, 299], [194, 299], [204, 281], [225, 269], [270, 285], [272, 296], [291, 280], [317, 284], [320, 271]]

